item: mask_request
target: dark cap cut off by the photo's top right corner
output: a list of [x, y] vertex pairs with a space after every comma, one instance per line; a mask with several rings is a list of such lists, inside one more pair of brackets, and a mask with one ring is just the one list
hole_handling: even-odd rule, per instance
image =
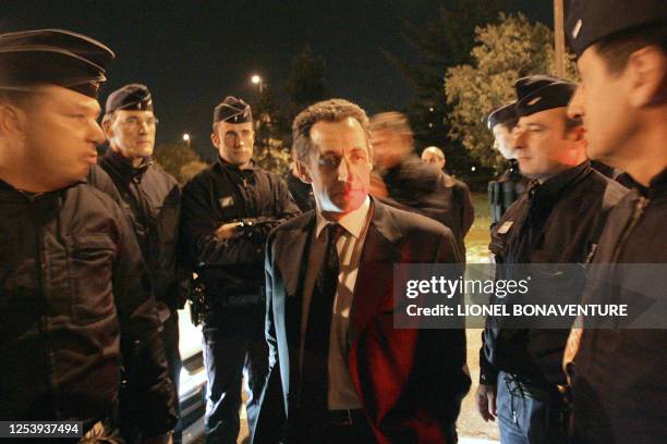
[[598, 40], [636, 26], [667, 22], [665, 0], [572, 0], [565, 29], [581, 57]]

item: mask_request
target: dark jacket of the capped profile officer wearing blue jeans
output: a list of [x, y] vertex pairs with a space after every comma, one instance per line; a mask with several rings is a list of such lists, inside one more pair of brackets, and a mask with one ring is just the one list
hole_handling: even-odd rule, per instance
[[[492, 232], [489, 249], [497, 262], [497, 279], [510, 276], [512, 264], [586, 262], [609, 210], [626, 193], [587, 161], [542, 185], [532, 182]], [[563, 301], [571, 297], [565, 296]], [[579, 300], [578, 295], [575, 298]], [[487, 328], [480, 357], [481, 382], [494, 384], [497, 371], [504, 370], [535, 385], [563, 384], [561, 362], [568, 333]]]

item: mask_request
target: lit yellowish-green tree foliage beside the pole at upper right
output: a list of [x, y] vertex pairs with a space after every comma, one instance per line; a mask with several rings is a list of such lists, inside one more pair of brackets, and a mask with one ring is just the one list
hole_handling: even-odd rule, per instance
[[[490, 110], [516, 100], [517, 79], [555, 75], [554, 34], [522, 14], [500, 13], [497, 24], [477, 27], [475, 35], [472, 62], [449, 67], [445, 76], [445, 96], [452, 107], [449, 136], [460, 140], [483, 165], [501, 168], [501, 159], [490, 149], [493, 135], [482, 120]], [[566, 77], [575, 78], [572, 55]]]

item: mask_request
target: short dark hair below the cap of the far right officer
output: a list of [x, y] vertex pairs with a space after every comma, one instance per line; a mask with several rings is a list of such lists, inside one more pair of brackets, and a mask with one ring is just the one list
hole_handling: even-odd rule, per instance
[[635, 26], [607, 36], [595, 44], [594, 48], [607, 64], [609, 73], [623, 72], [633, 52], [655, 46], [667, 54], [667, 24], [654, 23]]

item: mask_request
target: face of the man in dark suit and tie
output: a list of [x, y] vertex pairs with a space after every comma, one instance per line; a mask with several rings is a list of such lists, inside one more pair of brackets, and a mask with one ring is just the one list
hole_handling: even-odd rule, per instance
[[361, 124], [353, 118], [317, 122], [310, 137], [312, 151], [298, 168], [303, 181], [312, 184], [317, 207], [339, 215], [356, 210], [368, 196], [372, 169]]

